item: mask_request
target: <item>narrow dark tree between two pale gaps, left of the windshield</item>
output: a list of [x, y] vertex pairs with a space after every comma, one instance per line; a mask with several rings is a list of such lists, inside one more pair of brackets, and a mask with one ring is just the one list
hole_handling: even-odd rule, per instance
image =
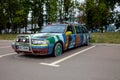
[[[31, 1], [31, 11], [32, 11], [32, 29], [33, 24], [38, 24], [39, 28], [43, 26], [43, 5], [44, 0], [32, 0]], [[36, 30], [34, 31], [36, 32]]]

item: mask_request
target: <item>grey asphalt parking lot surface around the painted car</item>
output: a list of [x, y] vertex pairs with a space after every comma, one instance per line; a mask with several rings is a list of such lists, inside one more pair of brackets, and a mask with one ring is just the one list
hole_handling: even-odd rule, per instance
[[120, 45], [91, 44], [59, 57], [17, 54], [0, 40], [0, 80], [120, 80]]

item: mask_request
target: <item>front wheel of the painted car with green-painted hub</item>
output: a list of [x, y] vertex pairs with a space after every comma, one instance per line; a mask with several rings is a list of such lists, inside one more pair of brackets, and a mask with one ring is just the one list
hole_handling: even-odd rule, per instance
[[57, 57], [62, 54], [62, 44], [61, 43], [56, 43], [54, 50], [53, 50], [53, 56]]

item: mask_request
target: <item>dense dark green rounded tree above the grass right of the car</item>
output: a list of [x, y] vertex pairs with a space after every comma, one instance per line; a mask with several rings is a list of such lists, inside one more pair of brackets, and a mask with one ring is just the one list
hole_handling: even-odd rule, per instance
[[102, 26], [108, 24], [107, 19], [110, 12], [104, 1], [87, 0], [86, 14], [89, 28], [103, 28]]

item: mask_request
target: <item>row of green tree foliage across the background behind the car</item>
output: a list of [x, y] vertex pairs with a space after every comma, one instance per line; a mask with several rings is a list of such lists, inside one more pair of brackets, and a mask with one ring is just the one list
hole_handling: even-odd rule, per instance
[[[0, 0], [0, 33], [12, 30], [20, 33], [21, 27], [31, 24], [32, 29], [38, 24], [39, 28], [46, 22], [68, 20], [75, 8], [83, 11], [82, 22], [89, 28], [100, 27], [114, 21], [113, 11], [115, 5], [120, 5], [120, 0], [85, 0], [84, 4], [78, 0]], [[28, 16], [30, 14], [31, 16]], [[46, 13], [46, 14], [44, 14]], [[31, 20], [28, 20], [31, 17]], [[116, 19], [119, 26], [120, 17]], [[33, 27], [33, 24], [35, 26]]]

